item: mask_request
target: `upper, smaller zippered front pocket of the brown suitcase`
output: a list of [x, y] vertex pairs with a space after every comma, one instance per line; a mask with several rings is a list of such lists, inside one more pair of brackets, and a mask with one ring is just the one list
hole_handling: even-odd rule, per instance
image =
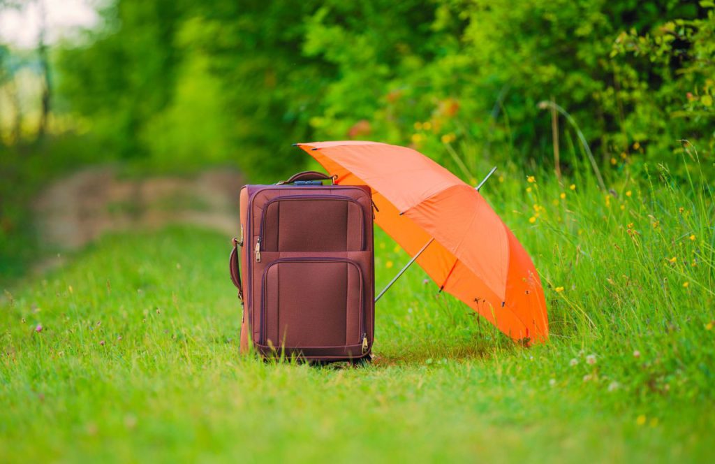
[[363, 251], [363, 207], [358, 200], [341, 195], [286, 195], [274, 198], [263, 208], [255, 248], [256, 253]]

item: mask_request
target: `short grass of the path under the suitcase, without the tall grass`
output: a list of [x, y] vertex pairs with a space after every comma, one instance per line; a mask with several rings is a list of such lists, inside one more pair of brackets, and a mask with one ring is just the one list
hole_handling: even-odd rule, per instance
[[404, 294], [381, 302], [372, 367], [240, 358], [235, 295], [214, 258], [225, 248], [225, 238], [195, 229], [115, 236], [6, 299], [0, 460], [607, 462], [712, 453], [711, 411], [583, 382], [594, 370], [606, 375], [609, 360], [588, 365], [568, 344], [516, 349], [486, 337], [458, 304], [424, 304], [433, 291], [420, 271], [410, 284], [421, 303]]

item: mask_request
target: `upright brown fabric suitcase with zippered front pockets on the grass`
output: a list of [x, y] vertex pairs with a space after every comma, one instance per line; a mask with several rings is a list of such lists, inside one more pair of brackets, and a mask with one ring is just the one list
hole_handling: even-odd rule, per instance
[[[307, 171], [241, 189], [231, 277], [242, 301], [241, 352], [370, 359], [375, 324], [373, 201], [364, 185], [322, 185]], [[239, 269], [240, 256], [240, 269]]]

